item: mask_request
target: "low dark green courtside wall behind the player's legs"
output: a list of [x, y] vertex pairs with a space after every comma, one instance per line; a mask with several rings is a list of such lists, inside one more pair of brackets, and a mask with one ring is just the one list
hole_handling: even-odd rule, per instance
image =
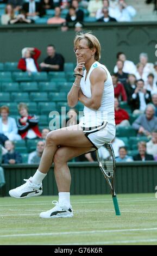
[[[78, 162], [68, 163], [71, 175], [71, 194], [103, 194], [109, 193], [106, 183], [97, 163]], [[16, 166], [2, 165], [5, 172], [6, 185], [1, 189], [5, 196], [11, 188], [20, 186], [23, 179], [33, 176], [37, 166], [16, 164]], [[116, 166], [117, 193], [155, 193], [157, 185], [157, 162], [118, 163]], [[53, 167], [43, 180], [43, 195], [58, 194]]]

